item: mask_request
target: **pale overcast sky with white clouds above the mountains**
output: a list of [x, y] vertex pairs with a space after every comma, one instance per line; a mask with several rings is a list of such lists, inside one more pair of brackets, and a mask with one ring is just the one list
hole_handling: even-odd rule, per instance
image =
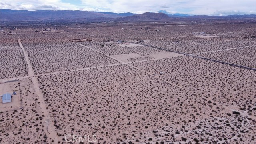
[[191, 15], [256, 14], [256, 0], [1, 0], [12, 10], [87, 10], [99, 12], [167, 12]]

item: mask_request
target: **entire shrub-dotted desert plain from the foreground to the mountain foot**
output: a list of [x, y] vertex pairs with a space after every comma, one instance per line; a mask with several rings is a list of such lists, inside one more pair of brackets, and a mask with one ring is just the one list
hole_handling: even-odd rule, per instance
[[0, 86], [19, 97], [1, 100], [0, 142], [254, 144], [255, 32], [254, 23], [6, 26]]

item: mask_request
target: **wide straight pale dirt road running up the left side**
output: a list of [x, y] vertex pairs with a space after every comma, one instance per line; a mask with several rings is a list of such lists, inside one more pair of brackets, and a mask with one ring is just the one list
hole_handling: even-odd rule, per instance
[[28, 65], [28, 76], [31, 77], [33, 88], [38, 96], [38, 105], [41, 109], [42, 115], [44, 115], [44, 117], [42, 119], [44, 121], [44, 125], [45, 125], [44, 132], [46, 133], [47, 138], [49, 138], [50, 140], [54, 140], [54, 142], [52, 142], [52, 143], [57, 144], [58, 141], [61, 142], [61, 140], [59, 140], [59, 137], [57, 136], [57, 132], [54, 127], [54, 120], [53, 120], [54, 118], [52, 118], [50, 116], [48, 110], [46, 109], [47, 105], [44, 103], [44, 96], [43, 96], [42, 92], [40, 91], [37, 77], [34, 75], [34, 70], [33, 70], [32, 66], [30, 65], [30, 61], [28, 59], [28, 54], [24, 50], [24, 47], [22, 46], [20, 39], [18, 39], [18, 43], [24, 53], [25, 60]]

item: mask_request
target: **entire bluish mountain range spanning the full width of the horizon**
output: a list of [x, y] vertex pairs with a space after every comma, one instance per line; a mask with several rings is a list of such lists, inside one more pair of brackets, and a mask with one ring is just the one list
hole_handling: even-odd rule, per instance
[[40, 20], [58, 20], [58, 21], [168, 21], [176, 18], [256, 18], [251, 15], [230, 15], [230, 16], [190, 16], [188, 14], [171, 14], [165, 10], [158, 13], [146, 12], [143, 14], [134, 13], [114, 13], [114, 12], [89, 12], [80, 10], [10, 10], [0, 9], [0, 21], [40, 21]]

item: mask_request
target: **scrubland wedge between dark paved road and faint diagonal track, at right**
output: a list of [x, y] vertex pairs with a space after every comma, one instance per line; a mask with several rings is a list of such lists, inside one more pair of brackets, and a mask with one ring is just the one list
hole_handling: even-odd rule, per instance
[[251, 70], [223, 66], [220, 63], [190, 56], [138, 62], [134, 63], [134, 66], [152, 74], [164, 72], [165, 74], [160, 76], [163, 80], [182, 86], [205, 98], [214, 96], [212, 99], [221, 105], [232, 105], [243, 109], [247, 100], [255, 101], [256, 83], [251, 79], [251, 76], [255, 76], [255, 72]]

